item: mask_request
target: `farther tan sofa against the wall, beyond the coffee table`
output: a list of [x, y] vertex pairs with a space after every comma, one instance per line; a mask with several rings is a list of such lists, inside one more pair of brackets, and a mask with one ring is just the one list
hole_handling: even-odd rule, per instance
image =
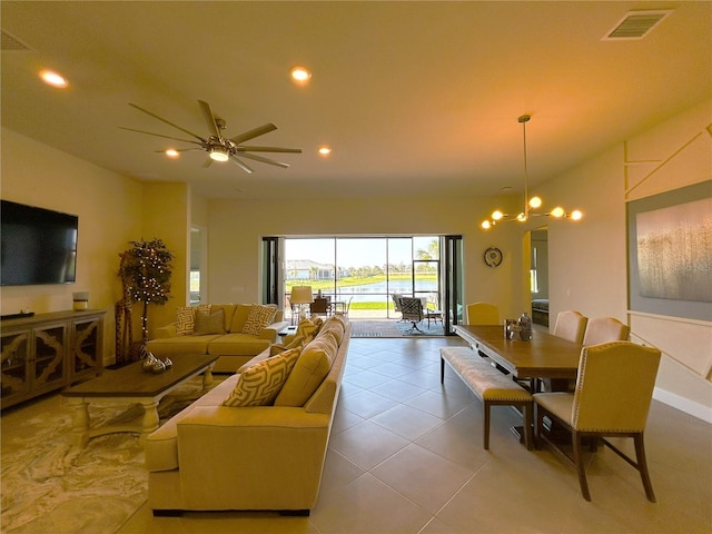
[[[261, 328], [246, 330], [246, 324], [254, 309], [274, 308], [274, 318]], [[210, 317], [201, 329], [196, 329], [197, 314], [209, 314]], [[190, 314], [194, 323], [190, 324]], [[215, 319], [221, 315], [221, 320]], [[212, 369], [215, 373], [235, 373], [241, 365], [258, 355], [279, 339], [278, 333], [289, 323], [283, 320], [283, 312], [276, 306], [256, 304], [212, 304], [197, 308], [179, 308], [175, 323], [156, 330], [146, 348], [159, 358], [180, 357], [181, 354], [217, 354], [220, 357]]]

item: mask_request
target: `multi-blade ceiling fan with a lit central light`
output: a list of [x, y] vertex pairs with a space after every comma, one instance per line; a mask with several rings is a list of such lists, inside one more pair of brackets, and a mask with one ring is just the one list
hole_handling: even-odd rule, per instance
[[[301, 154], [300, 148], [281, 148], [281, 147], [257, 147], [257, 146], [248, 146], [243, 145], [243, 142], [254, 139], [259, 136], [264, 136], [265, 134], [269, 134], [277, 129], [277, 127], [273, 123], [267, 123], [264, 126], [259, 126], [251, 130], [245, 131], [238, 136], [227, 138], [222, 135], [222, 130], [226, 128], [226, 122], [224, 119], [216, 117], [212, 112], [212, 108], [208, 102], [202, 100], [198, 100], [200, 105], [200, 111], [202, 111], [202, 117], [208, 123], [208, 129], [210, 135], [208, 137], [200, 137], [197, 134], [194, 134], [190, 130], [186, 130], [178, 125], [172, 123], [169, 120], [159, 117], [158, 115], [144, 109], [135, 103], [130, 103], [129, 106], [138, 109], [139, 111], [144, 111], [147, 115], [150, 115], [155, 119], [160, 120], [161, 122], [166, 122], [168, 126], [172, 126], [174, 128], [179, 129], [180, 131], [188, 134], [194, 137], [194, 139], [180, 139], [177, 137], [164, 136], [161, 134], [154, 134], [151, 131], [137, 130], [135, 128], [126, 128], [123, 126], [119, 126], [119, 128], [129, 131], [137, 131], [139, 134], [147, 134], [149, 136], [162, 137], [165, 139], [172, 139], [175, 141], [190, 142], [192, 145], [197, 145], [195, 148], [181, 148], [177, 149], [177, 152], [187, 152], [191, 150], [205, 150], [208, 152], [210, 158], [206, 161], [205, 167], [209, 167], [212, 161], [227, 161], [228, 159], [233, 160], [235, 165], [237, 165], [245, 172], [253, 172], [253, 169], [241, 161], [240, 158], [251, 159], [255, 161], [261, 161], [263, 164], [275, 165], [277, 167], [287, 168], [289, 165], [284, 164], [281, 161], [277, 161], [269, 158], [264, 158], [261, 156], [256, 156], [249, 152], [286, 152], [286, 154]], [[165, 150], [156, 150], [157, 152], [164, 152]]]

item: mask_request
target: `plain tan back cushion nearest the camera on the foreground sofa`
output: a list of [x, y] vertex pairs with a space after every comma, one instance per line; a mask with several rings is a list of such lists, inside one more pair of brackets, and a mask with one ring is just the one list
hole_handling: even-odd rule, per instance
[[304, 406], [328, 374], [337, 350], [336, 338], [329, 334], [319, 336], [305, 346], [277, 395], [275, 406]]

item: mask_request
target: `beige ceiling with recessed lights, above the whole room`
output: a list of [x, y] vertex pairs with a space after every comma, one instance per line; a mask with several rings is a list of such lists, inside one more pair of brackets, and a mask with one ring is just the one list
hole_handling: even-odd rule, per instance
[[[533, 184], [712, 95], [712, 2], [13, 2], [0, 24], [2, 125], [140, 180], [208, 197], [497, 195]], [[602, 37], [632, 9], [674, 11], [642, 40]], [[306, 87], [288, 79], [309, 67]], [[70, 87], [37, 78], [52, 68]], [[298, 147], [281, 169], [169, 160], [208, 135], [197, 100], [253, 145]], [[328, 158], [317, 147], [328, 144]], [[254, 165], [253, 165], [254, 164]]]

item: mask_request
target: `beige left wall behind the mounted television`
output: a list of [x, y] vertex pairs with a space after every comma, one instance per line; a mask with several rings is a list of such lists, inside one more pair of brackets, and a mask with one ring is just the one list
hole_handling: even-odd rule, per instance
[[0, 170], [3, 199], [79, 216], [77, 281], [2, 287], [2, 314], [71, 309], [72, 293], [89, 291], [89, 306], [108, 312], [105, 359], [112, 360], [119, 253], [141, 235], [141, 185], [6, 128]]

